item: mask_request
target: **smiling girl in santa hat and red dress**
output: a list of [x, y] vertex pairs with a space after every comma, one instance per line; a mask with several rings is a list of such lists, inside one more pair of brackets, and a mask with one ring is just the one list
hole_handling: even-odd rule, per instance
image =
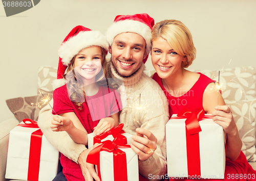
[[[52, 131], [66, 131], [74, 142], [87, 145], [87, 134], [99, 135], [118, 125], [120, 96], [106, 84], [107, 52], [105, 37], [81, 25], [62, 42], [57, 84], [67, 83], [53, 92]], [[84, 180], [78, 164], [63, 154], [60, 163], [68, 180]]]

